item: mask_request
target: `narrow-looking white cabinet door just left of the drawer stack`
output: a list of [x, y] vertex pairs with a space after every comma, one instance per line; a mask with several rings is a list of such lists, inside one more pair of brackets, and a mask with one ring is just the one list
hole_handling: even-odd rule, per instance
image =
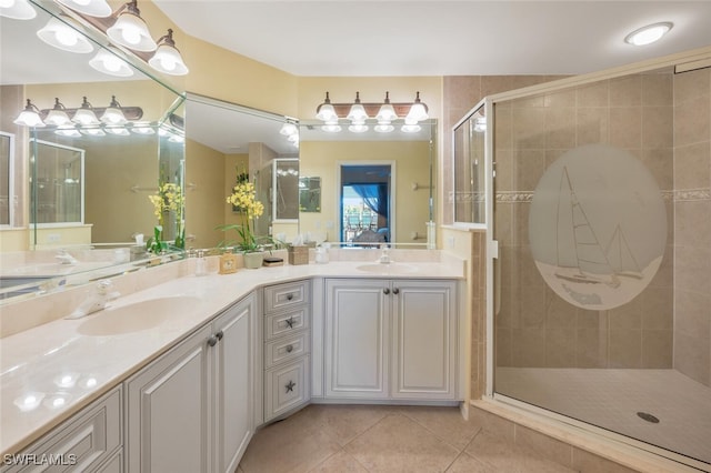
[[213, 397], [216, 471], [233, 472], [252, 433], [252, 386], [254, 385], [254, 295], [242, 300], [220, 315], [213, 331], [220, 338], [214, 345]]

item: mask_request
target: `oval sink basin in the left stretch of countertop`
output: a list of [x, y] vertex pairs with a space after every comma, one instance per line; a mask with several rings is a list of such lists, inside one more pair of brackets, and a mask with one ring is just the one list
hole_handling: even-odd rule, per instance
[[120, 335], [160, 325], [171, 315], [190, 311], [199, 304], [199, 298], [173, 296], [149, 299], [132, 304], [109, 308], [91, 314], [79, 325], [79, 333], [90, 336]]

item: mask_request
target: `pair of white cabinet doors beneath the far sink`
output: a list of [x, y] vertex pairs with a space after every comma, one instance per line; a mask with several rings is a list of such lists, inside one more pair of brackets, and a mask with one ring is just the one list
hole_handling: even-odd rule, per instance
[[326, 397], [458, 399], [457, 283], [328, 279]]

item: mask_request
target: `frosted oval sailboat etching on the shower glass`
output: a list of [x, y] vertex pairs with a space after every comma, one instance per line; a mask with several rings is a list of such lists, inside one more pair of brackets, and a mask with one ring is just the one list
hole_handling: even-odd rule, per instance
[[667, 249], [667, 209], [654, 177], [625, 150], [583, 144], [541, 177], [529, 212], [531, 256], [545, 284], [585, 310], [630, 302]]

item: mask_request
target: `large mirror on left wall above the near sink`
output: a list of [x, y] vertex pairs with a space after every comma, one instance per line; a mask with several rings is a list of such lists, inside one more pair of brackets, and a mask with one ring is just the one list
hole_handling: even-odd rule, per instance
[[[12, 147], [3, 142], [8, 152], [0, 170], [3, 300], [46, 290], [37, 282], [52, 276], [70, 284], [86, 282], [86, 271], [99, 266], [110, 273], [131, 262], [137, 236], [149, 239], [159, 220], [167, 241], [179, 241], [184, 229], [180, 212], [158, 219], [149, 199], [163, 182], [184, 192], [183, 130], [169, 120], [184, 112], [183, 98], [117, 56], [111, 57], [130, 77], [93, 69], [90, 60], [108, 51], [96, 36], [86, 37], [87, 53], [43, 42], [37, 31], [60, 11], [53, 2], [34, 1], [32, 8], [37, 17], [30, 20], [0, 17], [0, 41], [13, 44], [0, 56], [0, 134], [12, 138]], [[128, 122], [18, 125], [28, 99], [42, 118], [53, 108], [82, 103], [100, 115], [116, 101]], [[67, 278], [78, 273], [84, 275]]]

